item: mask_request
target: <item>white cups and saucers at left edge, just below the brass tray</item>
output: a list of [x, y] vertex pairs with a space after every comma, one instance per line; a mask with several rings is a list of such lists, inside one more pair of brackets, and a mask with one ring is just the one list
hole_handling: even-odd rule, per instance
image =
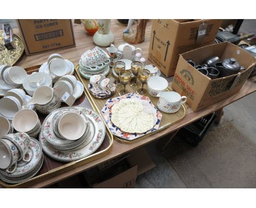
[[0, 65], [0, 96], [10, 89], [22, 88], [26, 71], [20, 66]]

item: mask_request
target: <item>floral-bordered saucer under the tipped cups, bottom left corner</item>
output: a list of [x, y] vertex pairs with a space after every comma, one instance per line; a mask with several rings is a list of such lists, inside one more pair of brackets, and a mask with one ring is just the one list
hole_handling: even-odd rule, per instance
[[34, 169], [38, 166], [42, 156], [42, 147], [38, 140], [30, 138], [29, 154], [31, 155], [30, 162], [19, 161], [14, 173], [8, 174], [4, 170], [0, 169], [0, 173], [8, 178], [17, 178], [20, 176], [30, 175], [34, 172]]

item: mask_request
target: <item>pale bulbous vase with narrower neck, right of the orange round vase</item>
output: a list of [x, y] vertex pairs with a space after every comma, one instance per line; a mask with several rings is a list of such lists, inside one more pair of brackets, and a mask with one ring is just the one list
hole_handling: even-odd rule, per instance
[[98, 20], [98, 31], [94, 34], [94, 43], [98, 46], [110, 46], [114, 35], [110, 31], [111, 20]]

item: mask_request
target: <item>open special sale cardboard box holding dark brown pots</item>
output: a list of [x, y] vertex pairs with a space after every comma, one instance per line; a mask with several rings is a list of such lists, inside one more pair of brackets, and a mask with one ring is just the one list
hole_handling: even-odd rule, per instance
[[[210, 79], [186, 62], [191, 59], [196, 64], [201, 64], [212, 56], [218, 56], [221, 60], [233, 57], [246, 70], [240, 75]], [[229, 42], [201, 47], [181, 54], [172, 88], [177, 93], [187, 96], [188, 105], [194, 111], [199, 111], [236, 94], [246, 82], [255, 64], [256, 59], [250, 53]]]

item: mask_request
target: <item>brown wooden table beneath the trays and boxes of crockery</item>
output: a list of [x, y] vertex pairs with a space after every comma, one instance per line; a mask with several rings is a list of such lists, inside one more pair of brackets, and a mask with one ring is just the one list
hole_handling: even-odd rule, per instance
[[[143, 50], [143, 57], [148, 57], [148, 47], [149, 47], [149, 39], [150, 39], [150, 31], [151, 31], [151, 23], [152, 21], [148, 22], [147, 29], [146, 29], [146, 37], [145, 41], [142, 44], [136, 45], [136, 47], [140, 47]], [[114, 45], [118, 46], [122, 44], [123, 41], [123, 30], [125, 26], [121, 25], [117, 20], [112, 20], [112, 32], [115, 36], [115, 42]], [[19, 34], [19, 31], [14, 31], [16, 34]], [[93, 47], [95, 47], [92, 36], [89, 36], [86, 34], [83, 25], [77, 25], [74, 24], [74, 35], [75, 35], [75, 42], [76, 47], [73, 48], [67, 48], [64, 50], [56, 51], [57, 53], [60, 53], [63, 57], [71, 60], [74, 64], [78, 64], [80, 56], [83, 52], [86, 50], [89, 50]], [[48, 56], [53, 52], [38, 54], [35, 56], [27, 57], [25, 54], [21, 57], [19, 62], [16, 65], [22, 66], [24, 68], [27, 68], [29, 66], [38, 65], [44, 63]], [[170, 78], [168, 78], [168, 81], [170, 82]], [[72, 170], [68, 170], [65, 173], [61, 173], [59, 175], [53, 176], [52, 178], [46, 179], [44, 181], [38, 182], [30, 188], [39, 188], [39, 187], [46, 187], [53, 183], [56, 183], [58, 181], [64, 180], [66, 178], [69, 178], [75, 174], [84, 172], [84, 170], [92, 168], [94, 166], [97, 166], [97, 164], [100, 164], [102, 162], [106, 162], [112, 158], [118, 157], [120, 155], [125, 154], [126, 152], [130, 152], [132, 150], [135, 150], [136, 148], [139, 148], [140, 146], [146, 145], [150, 142], [153, 142], [156, 139], [159, 139], [161, 137], [166, 136], [167, 134], [170, 134], [172, 132], [177, 131], [178, 129], [181, 129], [183, 126], [188, 125], [190, 123], [193, 123], [195, 120], [200, 119], [204, 117], [207, 114], [210, 114], [212, 112], [217, 112], [217, 114], [221, 115], [223, 107], [229, 105], [232, 102], [235, 102], [236, 100], [241, 99], [242, 97], [249, 95], [256, 91], [256, 84], [252, 82], [251, 79], [248, 79], [247, 82], [243, 85], [242, 89], [238, 91], [235, 95], [228, 97], [227, 99], [218, 102], [212, 106], [209, 106], [205, 109], [202, 109], [199, 112], [193, 112], [192, 109], [190, 109], [188, 106], [187, 115], [178, 123], [168, 127], [165, 130], [162, 130], [158, 133], [153, 134], [152, 136], [149, 136], [148, 138], [145, 138], [137, 143], [133, 144], [121, 144], [114, 140], [112, 150], [110, 153], [98, 160], [89, 162], [87, 164], [84, 164], [82, 166], [79, 166], [77, 168], [74, 168]], [[220, 116], [219, 116], [220, 118]]]

